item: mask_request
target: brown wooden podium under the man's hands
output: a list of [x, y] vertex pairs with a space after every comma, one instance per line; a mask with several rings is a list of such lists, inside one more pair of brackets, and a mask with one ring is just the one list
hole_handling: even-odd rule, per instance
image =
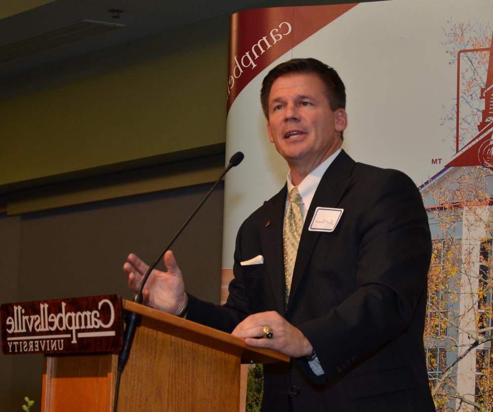
[[[243, 339], [123, 301], [142, 316], [123, 371], [118, 412], [236, 412], [242, 363], [289, 362]], [[111, 412], [118, 354], [45, 356], [41, 411]]]

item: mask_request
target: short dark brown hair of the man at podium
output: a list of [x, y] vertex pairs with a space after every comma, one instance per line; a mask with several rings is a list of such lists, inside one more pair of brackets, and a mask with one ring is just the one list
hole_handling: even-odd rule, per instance
[[311, 57], [307, 59], [291, 59], [272, 69], [262, 81], [260, 103], [267, 119], [269, 119], [269, 93], [274, 81], [281, 76], [300, 73], [317, 75], [323, 81], [332, 111], [340, 108], [346, 109], [346, 87], [344, 87], [341, 77], [334, 69]]

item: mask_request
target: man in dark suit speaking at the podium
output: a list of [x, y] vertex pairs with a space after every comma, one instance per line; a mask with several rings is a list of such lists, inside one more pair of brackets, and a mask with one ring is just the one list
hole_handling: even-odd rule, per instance
[[[423, 349], [431, 241], [419, 191], [340, 149], [346, 95], [332, 68], [283, 63], [261, 101], [290, 171], [239, 230], [226, 304], [187, 295], [171, 252], [144, 299], [290, 355], [289, 365], [264, 367], [263, 411], [434, 411]], [[146, 268], [129, 256], [131, 289]]]

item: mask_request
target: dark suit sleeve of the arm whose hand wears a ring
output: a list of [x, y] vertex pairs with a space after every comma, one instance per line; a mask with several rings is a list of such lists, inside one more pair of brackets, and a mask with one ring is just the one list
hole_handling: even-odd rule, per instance
[[387, 173], [368, 187], [359, 216], [353, 292], [325, 316], [297, 325], [323, 368], [324, 375], [317, 377], [300, 360], [317, 383], [341, 374], [344, 365], [372, 355], [405, 331], [426, 294], [431, 238], [412, 180], [400, 172]]

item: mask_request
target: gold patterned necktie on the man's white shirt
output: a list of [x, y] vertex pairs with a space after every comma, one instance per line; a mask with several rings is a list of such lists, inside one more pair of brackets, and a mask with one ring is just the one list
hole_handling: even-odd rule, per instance
[[301, 196], [298, 187], [289, 192], [286, 214], [284, 216], [284, 276], [286, 281], [286, 305], [291, 291], [294, 262], [300, 243], [303, 216], [301, 214]]

